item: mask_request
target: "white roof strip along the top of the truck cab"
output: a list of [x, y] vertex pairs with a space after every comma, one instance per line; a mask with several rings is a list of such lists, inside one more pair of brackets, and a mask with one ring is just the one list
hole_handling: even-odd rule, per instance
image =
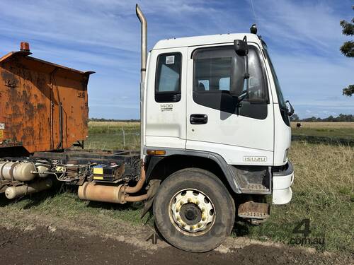
[[195, 37], [178, 37], [167, 40], [160, 40], [156, 43], [153, 49], [168, 49], [176, 47], [190, 47], [190, 46], [202, 46], [213, 45], [221, 43], [232, 43], [234, 40], [242, 40], [244, 36], [247, 36], [249, 42], [261, 43], [258, 36], [251, 33], [228, 33], [217, 35], [203, 35]]

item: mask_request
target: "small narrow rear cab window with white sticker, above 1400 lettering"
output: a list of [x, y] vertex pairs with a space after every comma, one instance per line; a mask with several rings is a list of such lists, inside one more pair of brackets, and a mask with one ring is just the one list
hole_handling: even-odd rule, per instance
[[160, 54], [157, 57], [155, 101], [181, 100], [181, 53]]

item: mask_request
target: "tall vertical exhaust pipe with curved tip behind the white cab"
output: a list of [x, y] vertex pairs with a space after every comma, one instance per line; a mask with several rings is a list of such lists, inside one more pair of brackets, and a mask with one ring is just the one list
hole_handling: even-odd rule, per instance
[[137, 18], [141, 23], [141, 69], [140, 69], [140, 158], [144, 156], [144, 87], [147, 73], [147, 19], [138, 6], [135, 6]]

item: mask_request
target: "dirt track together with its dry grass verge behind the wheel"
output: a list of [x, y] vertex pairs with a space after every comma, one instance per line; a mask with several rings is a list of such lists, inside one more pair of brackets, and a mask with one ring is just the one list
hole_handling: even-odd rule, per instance
[[353, 257], [231, 237], [212, 252], [193, 254], [161, 240], [153, 244], [149, 227], [101, 229], [94, 225], [104, 221], [100, 216], [73, 223], [6, 208], [1, 215], [7, 221], [0, 224], [0, 264], [353, 264]]

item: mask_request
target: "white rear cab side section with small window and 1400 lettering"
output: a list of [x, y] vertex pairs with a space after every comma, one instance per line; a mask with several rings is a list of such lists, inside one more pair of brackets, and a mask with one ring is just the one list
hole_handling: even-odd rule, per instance
[[185, 149], [187, 47], [149, 54], [145, 146]]

